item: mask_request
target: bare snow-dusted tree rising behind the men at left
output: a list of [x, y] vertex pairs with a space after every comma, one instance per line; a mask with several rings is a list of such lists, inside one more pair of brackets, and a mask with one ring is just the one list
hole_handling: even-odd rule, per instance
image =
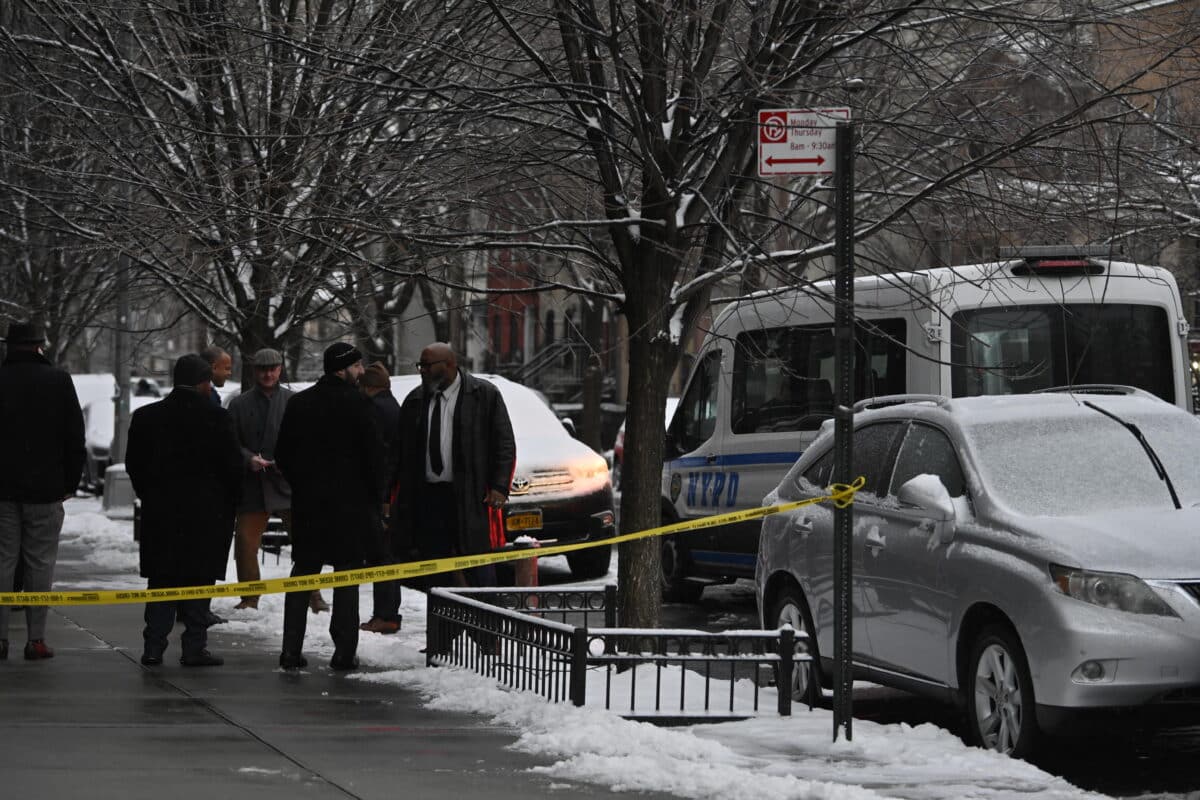
[[461, 0], [16, 5], [5, 85], [56, 118], [53, 146], [89, 154], [119, 188], [90, 198], [100, 225], [84, 237], [244, 351], [294, 344], [412, 223], [448, 131], [444, 52], [475, 13]]

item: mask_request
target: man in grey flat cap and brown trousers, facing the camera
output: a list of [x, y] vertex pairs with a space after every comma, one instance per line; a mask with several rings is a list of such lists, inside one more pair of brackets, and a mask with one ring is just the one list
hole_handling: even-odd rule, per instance
[[[234, 537], [239, 582], [262, 578], [258, 549], [272, 513], [292, 533], [292, 487], [275, 465], [275, 441], [283, 411], [295, 392], [280, 386], [283, 356], [278, 350], [263, 348], [251, 356], [250, 363], [254, 369], [254, 385], [229, 402], [229, 416], [241, 444], [245, 467]], [[312, 593], [310, 602], [314, 614], [329, 610], [318, 591]], [[244, 596], [234, 608], [258, 608], [258, 596]]]

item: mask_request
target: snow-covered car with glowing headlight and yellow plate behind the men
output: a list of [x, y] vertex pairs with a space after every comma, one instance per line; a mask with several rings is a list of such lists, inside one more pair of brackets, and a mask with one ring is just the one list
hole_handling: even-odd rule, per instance
[[[500, 390], [517, 445], [505, 506], [509, 540], [533, 536], [572, 545], [614, 536], [612, 482], [605, 459], [571, 438], [538, 392], [498, 375], [476, 377]], [[397, 375], [391, 379], [391, 390], [403, 402], [419, 384], [418, 375]], [[611, 559], [611, 546], [566, 554], [578, 579], [604, 576]]]

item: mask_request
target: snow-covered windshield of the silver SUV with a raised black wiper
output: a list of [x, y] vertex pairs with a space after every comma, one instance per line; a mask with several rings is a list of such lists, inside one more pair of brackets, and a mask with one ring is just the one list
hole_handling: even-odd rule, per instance
[[[1200, 501], [1200, 422], [1187, 414], [1121, 416], [1141, 428], [1180, 501]], [[1019, 513], [1174, 507], [1138, 439], [1099, 411], [988, 421], [967, 426], [966, 433], [986, 492]]]

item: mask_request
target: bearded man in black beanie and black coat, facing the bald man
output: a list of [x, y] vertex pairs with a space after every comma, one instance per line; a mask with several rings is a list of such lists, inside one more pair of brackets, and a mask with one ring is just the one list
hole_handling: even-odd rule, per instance
[[[362, 354], [344, 342], [325, 349], [325, 374], [292, 398], [283, 414], [275, 458], [292, 485], [292, 575], [361, 569], [382, 558], [383, 444], [374, 411], [356, 387]], [[280, 666], [299, 669], [304, 657], [307, 591], [283, 602]], [[334, 589], [329, 634], [332, 669], [359, 662], [359, 588]]]

